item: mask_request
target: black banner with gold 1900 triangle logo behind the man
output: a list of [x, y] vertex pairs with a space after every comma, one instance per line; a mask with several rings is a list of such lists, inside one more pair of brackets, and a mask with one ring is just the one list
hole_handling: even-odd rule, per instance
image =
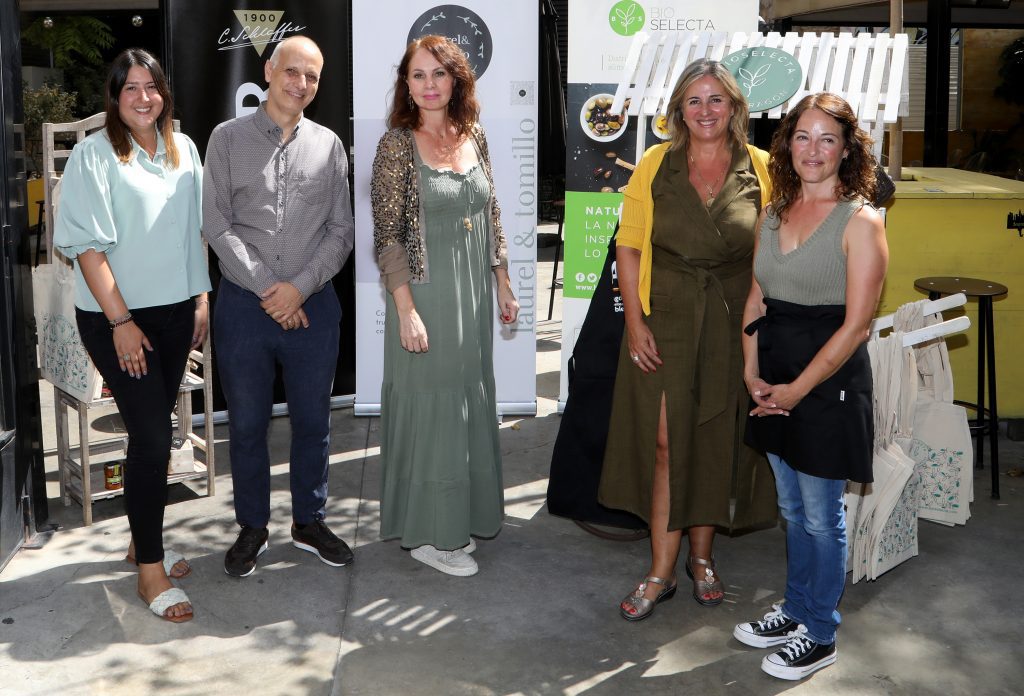
[[[164, 0], [164, 68], [174, 94], [175, 116], [201, 154], [217, 124], [252, 113], [266, 91], [263, 68], [274, 46], [306, 36], [324, 53], [319, 89], [305, 116], [332, 129], [351, 146], [348, 0]], [[349, 162], [351, 173], [351, 162]], [[214, 289], [220, 280], [211, 252]], [[352, 262], [335, 276], [341, 300], [341, 350], [334, 394], [355, 392], [355, 292]], [[211, 303], [216, 302], [216, 290]], [[212, 308], [211, 308], [212, 311]], [[224, 407], [216, 369], [214, 408]], [[274, 400], [283, 401], [279, 381]]]

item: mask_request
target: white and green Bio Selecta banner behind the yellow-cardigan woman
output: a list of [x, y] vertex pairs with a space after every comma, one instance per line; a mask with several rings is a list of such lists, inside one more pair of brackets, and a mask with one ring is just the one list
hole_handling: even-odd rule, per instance
[[[613, 128], [595, 132], [594, 114], [606, 110], [618, 84], [633, 77], [630, 58], [631, 50], [639, 50], [638, 36], [657, 45], [667, 35], [689, 41], [694, 35], [755, 32], [758, 27], [758, 0], [569, 0], [568, 10], [559, 410], [568, 398], [568, 359], [587, 318], [621, 213], [622, 189], [629, 181], [630, 170], [623, 163], [640, 160], [639, 143], [650, 145], [668, 137], [652, 130], [652, 120], [645, 117], [618, 119]], [[633, 61], [636, 58], [632, 55]]]

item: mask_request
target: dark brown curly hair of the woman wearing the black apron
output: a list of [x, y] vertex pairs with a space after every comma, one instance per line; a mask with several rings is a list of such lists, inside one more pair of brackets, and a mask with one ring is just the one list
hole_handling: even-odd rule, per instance
[[827, 114], [843, 129], [843, 146], [847, 149], [847, 156], [840, 162], [836, 195], [841, 199], [861, 197], [868, 201], [874, 195], [876, 160], [871, 154], [873, 140], [857, 125], [857, 116], [846, 99], [829, 92], [808, 94], [785, 115], [771, 139], [768, 174], [771, 176], [772, 191], [769, 205], [779, 220], [800, 195], [800, 176], [793, 168], [793, 149], [790, 143], [800, 117], [811, 108]]

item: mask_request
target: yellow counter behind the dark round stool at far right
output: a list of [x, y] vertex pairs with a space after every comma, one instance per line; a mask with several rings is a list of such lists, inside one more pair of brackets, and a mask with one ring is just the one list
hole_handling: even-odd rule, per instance
[[[879, 312], [926, 298], [913, 281], [963, 275], [1000, 282], [1010, 293], [993, 302], [996, 394], [1000, 418], [1024, 418], [1024, 238], [1008, 230], [1007, 213], [1024, 208], [1024, 183], [952, 169], [904, 169], [916, 181], [897, 183], [886, 216], [889, 274]], [[941, 190], [927, 190], [941, 189]], [[971, 329], [947, 339], [956, 398], [977, 400], [977, 310]], [[946, 318], [958, 315], [953, 310]]]

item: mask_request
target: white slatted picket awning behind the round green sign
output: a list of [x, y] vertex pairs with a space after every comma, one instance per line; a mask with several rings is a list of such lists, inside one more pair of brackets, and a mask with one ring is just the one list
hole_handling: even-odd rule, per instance
[[806, 95], [827, 90], [846, 99], [865, 127], [881, 128], [896, 122], [901, 104], [906, 113], [903, 80], [907, 45], [906, 34], [666, 32], [651, 37], [638, 32], [627, 53], [625, 78], [615, 90], [611, 113], [621, 112], [629, 99], [630, 116], [664, 115], [672, 88], [686, 66], [700, 58], [721, 60], [733, 51], [763, 46], [793, 54], [804, 72], [801, 89], [785, 103], [771, 108], [768, 118], [780, 119]]

